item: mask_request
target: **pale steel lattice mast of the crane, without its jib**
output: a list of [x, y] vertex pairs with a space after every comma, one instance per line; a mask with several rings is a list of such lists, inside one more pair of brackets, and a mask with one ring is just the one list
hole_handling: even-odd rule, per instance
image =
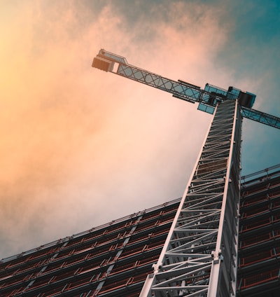
[[192, 177], [141, 297], [235, 296], [241, 114], [215, 111]]

